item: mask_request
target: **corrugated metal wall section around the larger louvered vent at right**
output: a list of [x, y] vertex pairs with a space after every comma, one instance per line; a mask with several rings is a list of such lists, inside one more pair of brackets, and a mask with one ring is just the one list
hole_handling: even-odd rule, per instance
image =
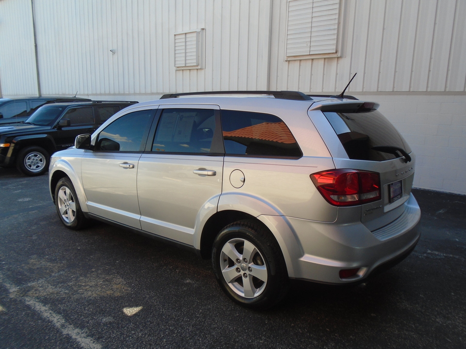
[[342, 55], [285, 61], [287, 0], [274, 0], [271, 90], [466, 91], [465, 0], [343, 0]]

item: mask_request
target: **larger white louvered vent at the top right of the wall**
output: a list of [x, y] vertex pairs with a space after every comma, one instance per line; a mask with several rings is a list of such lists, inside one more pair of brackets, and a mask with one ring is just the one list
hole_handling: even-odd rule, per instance
[[289, 0], [286, 56], [338, 53], [340, 0]]

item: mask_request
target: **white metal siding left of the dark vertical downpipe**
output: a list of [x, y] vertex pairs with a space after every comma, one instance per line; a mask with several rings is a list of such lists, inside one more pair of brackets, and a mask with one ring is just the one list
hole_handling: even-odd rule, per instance
[[37, 95], [31, 0], [0, 1], [1, 93]]

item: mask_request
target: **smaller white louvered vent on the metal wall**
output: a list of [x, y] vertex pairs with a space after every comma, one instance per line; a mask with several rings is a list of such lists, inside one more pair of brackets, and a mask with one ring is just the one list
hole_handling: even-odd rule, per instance
[[201, 68], [201, 31], [175, 34], [175, 67]]

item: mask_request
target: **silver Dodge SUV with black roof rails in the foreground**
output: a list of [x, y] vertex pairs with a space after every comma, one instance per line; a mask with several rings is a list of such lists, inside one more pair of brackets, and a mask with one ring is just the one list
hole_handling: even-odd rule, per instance
[[415, 158], [354, 97], [164, 95], [116, 113], [50, 160], [70, 229], [89, 219], [212, 258], [234, 301], [267, 308], [289, 279], [349, 284], [415, 247]]

